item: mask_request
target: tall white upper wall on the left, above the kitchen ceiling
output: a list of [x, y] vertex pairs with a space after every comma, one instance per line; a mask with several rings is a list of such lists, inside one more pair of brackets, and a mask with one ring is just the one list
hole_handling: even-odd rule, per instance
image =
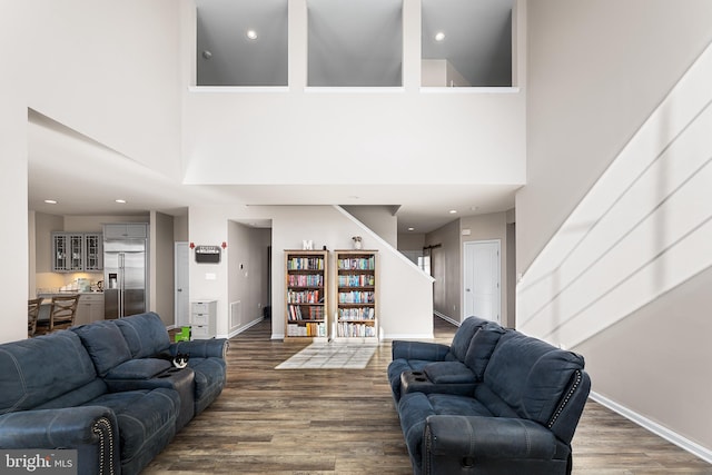
[[28, 43], [27, 105], [180, 178], [181, 2], [26, 3], [32, 20], [6, 44]]

